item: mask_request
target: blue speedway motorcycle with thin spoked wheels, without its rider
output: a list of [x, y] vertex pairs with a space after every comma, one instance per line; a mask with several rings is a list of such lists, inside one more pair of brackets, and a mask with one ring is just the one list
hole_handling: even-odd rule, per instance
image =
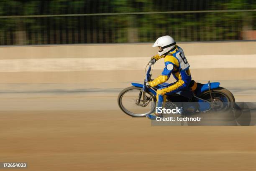
[[[119, 93], [118, 106], [125, 114], [132, 117], [145, 117], [146, 114], [153, 113], [156, 109], [156, 91], [168, 83], [162, 83], [156, 87], [146, 86], [146, 83], [151, 80], [152, 65], [154, 66], [151, 62], [146, 65], [146, 78], [143, 84], [131, 83], [133, 86], [125, 88]], [[195, 90], [192, 91], [192, 87]], [[184, 114], [231, 111], [235, 105], [233, 94], [220, 87], [218, 82], [210, 83], [208, 81], [208, 83], [202, 84], [192, 80], [186, 90], [166, 95], [165, 108], [183, 108]]]

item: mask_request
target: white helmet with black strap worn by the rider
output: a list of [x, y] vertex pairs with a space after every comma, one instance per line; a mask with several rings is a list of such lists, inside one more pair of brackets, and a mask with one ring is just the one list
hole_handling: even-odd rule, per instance
[[174, 41], [174, 39], [169, 35], [165, 35], [158, 38], [152, 47], [160, 46], [162, 50], [159, 50], [158, 54], [159, 56], [161, 56], [172, 50], [172, 48], [174, 48], [175, 45], [176, 42]]

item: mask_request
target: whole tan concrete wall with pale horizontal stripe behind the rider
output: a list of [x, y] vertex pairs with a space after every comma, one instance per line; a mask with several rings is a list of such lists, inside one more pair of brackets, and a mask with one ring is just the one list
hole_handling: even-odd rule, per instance
[[[256, 42], [178, 43], [195, 80], [256, 79]], [[0, 47], [0, 83], [139, 81], [151, 44]], [[159, 60], [153, 76], [164, 67]]]

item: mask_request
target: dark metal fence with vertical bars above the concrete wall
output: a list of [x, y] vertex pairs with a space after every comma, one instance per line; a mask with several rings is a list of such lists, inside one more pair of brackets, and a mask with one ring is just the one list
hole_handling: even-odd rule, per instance
[[[117, 7], [109, 0], [85, 2], [80, 4], [82, 10], [75, 12], [44, 12], [41, 7], [41, 12], [32, 15], [5, 13], [0, 16], [0, 45], [138, 43], [153, 42], [162, 35], [171, 35], [177, 41], [245, 40], [248, 30], [256, 30], [253, 6], [216, 9], [209, 0], [172, 1], [176, 8], [164, 0], [157, 4], [152, 1], [146, 7], [138, 3], [133, 8], [128, 4]], [[153, 7], [158, 8], [149, 11]], [[83, 13], [73, 14], [78, 12]]]

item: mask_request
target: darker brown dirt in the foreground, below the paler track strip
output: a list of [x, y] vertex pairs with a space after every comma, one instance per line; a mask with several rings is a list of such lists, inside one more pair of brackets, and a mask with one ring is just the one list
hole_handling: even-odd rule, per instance
[[254, 126], [151, 126], [119, 110], [1, 111], [0, 130], [0, 161], [30, 171], [256, 167]]

